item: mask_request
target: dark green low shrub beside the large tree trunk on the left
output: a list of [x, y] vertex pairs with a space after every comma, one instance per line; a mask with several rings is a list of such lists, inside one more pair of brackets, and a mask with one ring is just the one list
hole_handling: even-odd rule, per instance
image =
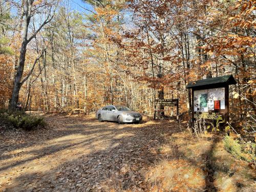
[[45, 127], [46, 122], [42, 117], [30, 116], [25, 113], [16, 111], [10, 112], [0, 110], [0, 119], [8, 124], [11, 124], [16, 129], [31, 131], [39, 127]]

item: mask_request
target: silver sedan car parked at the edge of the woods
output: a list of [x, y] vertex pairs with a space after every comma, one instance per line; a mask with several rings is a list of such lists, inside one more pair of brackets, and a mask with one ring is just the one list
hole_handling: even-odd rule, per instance
[[138, 112], [131, 111], [123, 105], [108, 105], [96, 112], [98, 121], [116, 121], [118, 123], [141, 122], [142, 115]]

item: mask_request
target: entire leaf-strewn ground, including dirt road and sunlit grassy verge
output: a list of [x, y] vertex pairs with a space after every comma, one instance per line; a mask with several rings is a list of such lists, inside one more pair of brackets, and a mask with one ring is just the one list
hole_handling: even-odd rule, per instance
[[255, 171], [217, 136], [174, 120], [44, 115], [45, 130], [0, 135], [0, 191], [255, 191]]

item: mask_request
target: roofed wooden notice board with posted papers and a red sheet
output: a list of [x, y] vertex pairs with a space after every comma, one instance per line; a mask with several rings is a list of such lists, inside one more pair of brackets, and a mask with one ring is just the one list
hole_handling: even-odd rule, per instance
[[229, 120], [229, 84], [236, 84], [232, 75], [189, 82], [192, 89], [192, 123], [195, 119]]

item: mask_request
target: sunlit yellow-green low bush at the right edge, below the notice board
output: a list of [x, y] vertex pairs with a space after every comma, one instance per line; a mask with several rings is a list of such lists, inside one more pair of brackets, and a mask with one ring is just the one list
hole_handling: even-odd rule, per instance
[[256, 159], [255, 156], [255, 143], [240, 143], [238, 140], [234, 140], [232, 137], [224, 137], [224, 147], [233, 156], [242, 160], [251, 162]]

